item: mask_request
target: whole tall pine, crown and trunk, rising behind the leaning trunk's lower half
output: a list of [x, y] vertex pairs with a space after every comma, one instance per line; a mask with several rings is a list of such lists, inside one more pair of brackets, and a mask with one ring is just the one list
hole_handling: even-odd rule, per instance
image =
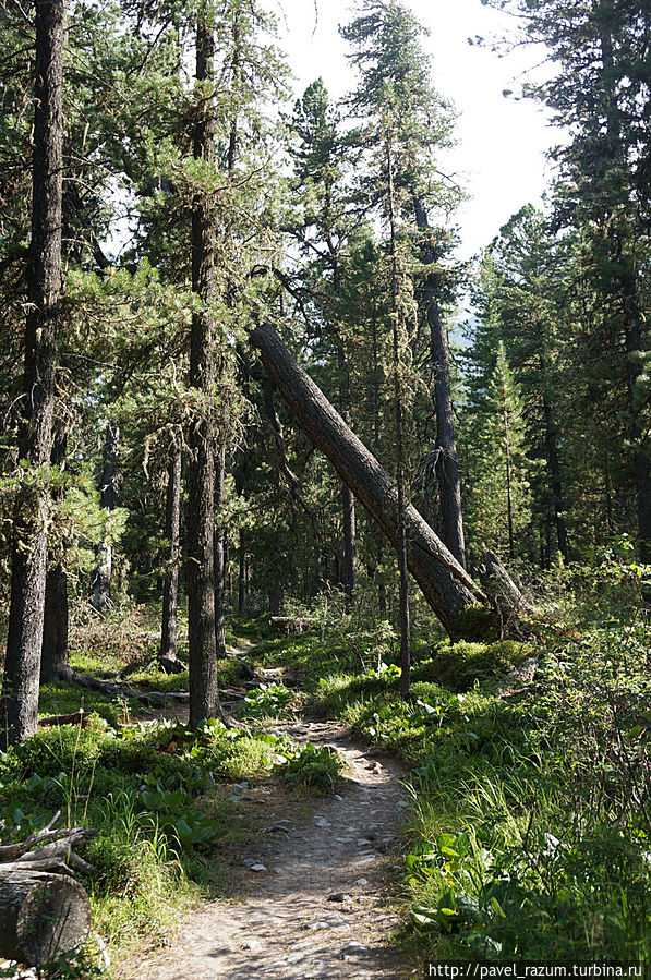
[[[403, 227], [412, 238], [412, 275], [422, 315], [430, 328], [429, 356], [434, 375], [433, 399], [436, 413], [434, 446], [435, 479], [438, 485], [442, 534], [444, 542], [465, 564], [461, 487], [455, 440], [454, 410], [450, 387], [449, 350], [442, 305], [450, 289], [450, 273], [445, 255], [450, 237], [439, 227], [432, 227], [430, 215], [435, 210], [443, 219], [459, 202], [459, 192], [439, 177], [436, 154], [451, 140], [453, 112], [432, 85], [430, 65], [420, 44], [424, 29], [401, 4], [367, 3], [362, 15], [342, 31], [357, 51], [351, 56], [362, 75], [362, 82], [351, 99], [358, 113], [377, 110], [385, 100], [397, 113], [394, 140], [395, 187], [398, 213], [409, 213], [414, 227]], [[367, 136], [365, 137], [367, 141]], [[374, 191], [366, 183], [369, 197]], [[419, 267], [420, 263], [420, 267]]]

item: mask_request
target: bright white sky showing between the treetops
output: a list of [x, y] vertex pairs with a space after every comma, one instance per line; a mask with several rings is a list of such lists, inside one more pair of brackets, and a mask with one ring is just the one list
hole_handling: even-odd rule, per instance
[[[296, 75], [297, 96], [320, 76], [335, 98], [352, 88], [347, 45], [337, 31], [352, 20], [351, 0], [317, 0], [316, 27], [314, 0], [277, 4], [284, 11], [279, 43]], [[539, 51], [520, 50], [501, 59], [468, 44], [469, 36], [492, 37], [504, 31], [504, 14], [480, 0], [408, 0], [408, 5], [430, 31], [422, 43], [432, 55], [434, 84], [461, 113], [458, 146], [442, 169], [456, 173], [471, 194], [458, 214], [461, 257], [467, 258], [487, 245], [522, 205], [540, 204], [548, 176], [544, 153], [558, 142], [558, 132], [546, 126], [537, 104], [502, 94], [505, 88], [517, 92], [520, 73], [535, 63]]]

